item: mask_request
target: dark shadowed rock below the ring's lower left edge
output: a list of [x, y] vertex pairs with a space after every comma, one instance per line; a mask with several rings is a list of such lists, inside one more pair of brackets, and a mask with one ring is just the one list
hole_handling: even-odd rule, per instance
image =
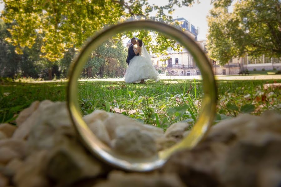
[[105, 170], [104, 165], [76, 140], [62, 137], [48, 156], [46, 174], [57, 186], [70, 186], [76, 181], [102, 175]]

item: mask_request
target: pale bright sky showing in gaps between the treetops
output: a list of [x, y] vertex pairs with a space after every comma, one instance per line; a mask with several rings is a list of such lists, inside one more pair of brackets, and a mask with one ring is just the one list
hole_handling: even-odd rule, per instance
[[[211, 0], [200, 1], [200, 3], [197, 3], [195, 0], [195, 4], [191, 7], [175, 7], [176, 10], [172, 16], [173, 18], [183, 17], [190, 21], [190, 23], [195, 27], [199, 27], [199, 35], [197, 38], [198, 40], [203, 40], [206, 38], [206, 34], [208, 32], [206, 16], [209, 14], [212, 5], [210, 5]], [[1, 2], [2, 0], [0, 0], [0, 11], [4, 8], [4, 4]], [[149, 0], [149, 3], [161, 6], [167, 4], [168, 0]]]

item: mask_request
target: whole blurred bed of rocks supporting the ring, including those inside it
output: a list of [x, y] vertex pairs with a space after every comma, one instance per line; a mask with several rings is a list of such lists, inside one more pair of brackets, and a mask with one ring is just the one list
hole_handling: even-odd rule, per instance
[[[164, 133], [100, 110], [84, 120], [105, 144], [135, 157], [152, 156], [189, 133], [185, 123]], [[64, 102], [34, 102], [16, 122], [0, 124], [0, 187], [281, 186], [281, 115], [272, 111], [219, 122], [194, 149], [148, 173], [125, 173], [94, 158], [78, 140]]]

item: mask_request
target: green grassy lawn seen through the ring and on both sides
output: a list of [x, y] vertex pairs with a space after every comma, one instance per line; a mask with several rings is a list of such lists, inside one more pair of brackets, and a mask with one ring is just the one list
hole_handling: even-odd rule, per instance
[[[259, 115], [268, 109], [280, 111], [280, 89], [263, 89], [263, 84], [274, 82], [281, 80], [217, 81], [216, 121], [238, 113]], [[13, 122], [35, 100], [64, 101], [66, 85], [66, 82], [2, 82], [0, 122]], [[164, 129], [178, 121], [193, 124], [203, 96], [201, 80], [160, 80], [146, 84], [80, 81], [78, 93], [84, 115], [96, 109], [115, 111]]]

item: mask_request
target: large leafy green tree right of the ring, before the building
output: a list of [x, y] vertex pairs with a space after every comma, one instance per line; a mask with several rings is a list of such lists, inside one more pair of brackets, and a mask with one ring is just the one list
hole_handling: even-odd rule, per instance
[[226, 64], [233, 57], [281, 56], [281, 3], [279, 0], [213, 0], [208, 16], [210, 58]]

